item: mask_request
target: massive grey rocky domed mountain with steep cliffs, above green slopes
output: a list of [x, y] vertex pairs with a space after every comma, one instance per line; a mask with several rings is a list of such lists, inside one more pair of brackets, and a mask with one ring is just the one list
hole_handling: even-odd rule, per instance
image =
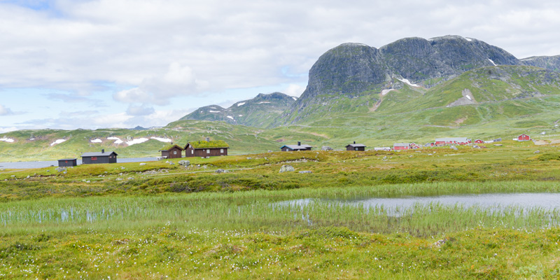
[[461, 36], [403, 38], [379, 49], [344, 43], [311, 66], [306, 90], [272, 127], [334, 118], [339, 113], [377, 111], [381, 92], [414, 85], [414, 91], [423, 95], [431, 87], [481, 67], [531, 65], [554, 71], [558, 62], [558, 57], [521, 61], [501, 48]]

